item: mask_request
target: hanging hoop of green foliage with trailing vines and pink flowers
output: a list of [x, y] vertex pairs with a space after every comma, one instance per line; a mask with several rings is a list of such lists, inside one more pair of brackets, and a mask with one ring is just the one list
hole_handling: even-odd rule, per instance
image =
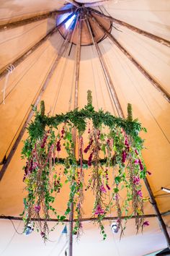
[[[122, 214], [135, 216], [137, 231], [143, 221], [143, 195], [140, 179], [145, 179], [147, 171], [141, 156], [143, 140], [139, 132], [138, 120], [133, 121], [132, 107], [128, 104], [128, 119], [122, 119], [92, 106], [91, 92], [88, 91], [88, 104], [81, 110], [76, 108], [66, 114], [45, 116], [45, 104], [42, 101], [40, 112], [35, 110], [35, 120], [27, 128], [28, 138], [24, 141], [22, 158], [26, 158], [23, 181], [26, 184], [27, 197], [24, 198], [24, 211], [21, 214], [25, 229], [33, 218], [34, 226], [43, 239], [48, 239], [48, 219], [55, 214], [61, 222], [71, 212], [74, 205], [76, 222], [73, 234], [81, 234], [83, 218], [82, 204], [89, 189], [94, 193], [94, 208], [91, 216], [97, 217], [103, 238], [106, 239], [102, 220], [111, 210], [117, 212], [117, 226], [121, 234]], [[62, 127], [62, 128], [61, 128]], [[89, 135], [89, 142], [84, 145], [84, 135]], [[76, 145], [79, 156], [76, 157]], [[65, 152], [66, 158], [61, 158]], [[86, 158], [87, 160], [84, 160]], [[63, 164], [63, 171], [58, 165]], [[89, 174], [88, 184], [84, 182], [84, 168]], [[112, 179], [109, 173], [113, 170]], [[70, 194], [66, 211], [58, 215], [53, 202], [62, 192], [63, 183], [70, 183]], [[126, 191], [122, 201], [120, 191]], [[121, 207], [120, 207], [121, 205]], [[130, 207], [133, 212], [130, 212]], [[44, 221], [40, 221], [40, 216]]]

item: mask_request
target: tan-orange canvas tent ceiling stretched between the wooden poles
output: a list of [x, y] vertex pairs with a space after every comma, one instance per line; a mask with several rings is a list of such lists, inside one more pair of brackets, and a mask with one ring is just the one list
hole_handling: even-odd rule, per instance
[[[88, 3], [89, 2], [93, 1], [88, 1]], [[31, 2], [27, 0], [1, 0], [0, 25], [21, 20], [25, 17], [32, 17], [32, 15], [35, 14], [60, 9], [63, 4], [64, 1], [62, 0], [36, 0]], [[170, 1], [168, 0], [108, 1], [103, 6], [112, 17], [128, 22], [131, 25], [158, 35], [166, 40], [170, 39]], [[114, 25], [120, 30], [112, 28], [112, 34], [115, 38], [140, 62], [147, 72], [170, 93], [169, 47], [128, 30], [128, 28], [116, 24]], [[55, 27], [55, 19], [49, 18], [11, 30], [1, 31], [0, 71], [6, 69], [9, 64], [12, 64], [19, 56], [22, 56], [24, 52], [34, 46], [35, 43], [53, 27]], [[14, 69], [14, 72], [9, 75], [6, 86], [5, 104], [3, 104], [3, 94], [1, 93], [0, 96], [0, 161], [4, 158], [6, 152], [8, 155], [10, 147], [12, 146], [12, 140], [24, 124], [31, 104], [35, 102], [35, 98], [40, 92], [40, 88], [45, 81], [45, 77], [48, 75], [61, 44], [63, 44], [63, 38], [60, 33], [54, 33], [48, 40], [42, 43], [39, 48], [24, 59], [24, 61]], [[165, 212], [170, 208], [169, 196], [162, 195], [164, 192], [161, 192], [161, 187], [170, 187], [169, 103], [108, 38], [99, 43], [99, 47], [101, 48], [104, 60], [115, 85], [115, 90], [124, 114], [126, 115], [127, 104], [132, 103], [133, 116], [135, 118], [138, 117], [143, 126], [148, 129], [148, 133], [142, 135], [143, 138], [146, 139], [146, 150], [143, 150], [143, 157], [148, 170], [152, 172], [148, 180], [153, 189], [153, 194], [156, 196], [158, 207], [161, 212]], [[45, 101], [46, 113], [50, 112], [50, 114], [55, 114], [73, 109], [76, 46], [73, 46], [70, 56], [68, 56], [68, 50], [59, 61], [58, 67], [55, 69], [53, 77], [50, 79], [48, 87], [42, 95], [42, 99]], [[6, 77], [0, 80], [0, 92], [4, 88], [5, 80]], [[81, 47], [79, 108], [86, 104], [87, 90], [92, 90], [93, 103], [96, 109], [103, 108], [104, 110], [112, 112], [112, 114], [115, 113], [115, 108], [112, 108], [104, 74], [94, 46]], [[26, 134], [24, 135], [24, 138], [25, 137], [27, 137]], [[19, 144], [0, 184], [0, 214], [6, 216], [19, 216], [23, 208], [22, 190], [24, 184], [22, 183], [23, 161], [20, 159], [21, 148], [22, 142]], [[65, 189], [65, 195], [68, 194], [67, 189]], [[143, 187], [143, 193], [148, 196], [145, 187]], [[90, 217], [90, 201], [88, 200], [85, 200], [84, 203], [84, 217]], [[59, 202], [60, 207], [58, 210], [62, 211], [65, 209], [62, 198], [59, 199]], [[146, 202], [145, 213], [154, 213], [149, 202]], [[169, 217], [166, 217], [165, 221], [166, 224], [169, 225]], [[3, 251], [4, 244], [7, 244], [7, 239], [10, 239], [12, 236], [11, 223], [5, 222], [5, 225], [6, 229], [9, 231], [9, 237], [7, 235], [5, 236], [6, 241], [1, 244], [0, 253]], [[97, 227], [95, 228], [91, 223], [88, 225], [85, 228], [85, 233], [89, 234], [92, 239]], [[0, 221], [0, 226], [5, 229], [3, 221]], [[89, 230], [91, 230], [91, 232], [89, 232]], [[146, 233], [144, 233], [143, 236], [136, 236], [136, 243], [140, 244], [141, 240], [143, 244], [147, 244], [146, 248], [141, 248], [140, 252], [136, 252], [135, 250], [134, 252], [131, 251], [129, 254], [127, 252], [127, 255], [144, 255], [146, 252], [166, 247], [164, 236], [161, 234], [156, 219], [151, 221], [151, 226]], [[157, 237], [156, 234], [159, 239], [154, 242], [154, 237]], [[110, 243], [107, 242], [103, 244], [104, 248], [106, 248], [105, 250], [108, 252], [107, 255], [113, 255], [112, 249], [110, 249], [113, 246], [111, 245], [113, 243], [112, 238], [110, 238], [111, 235], [112, 234], [109, 234]], [[133, 244], [134, 237], [135, 229], [133, 226], [128, 225], [128, 231], [124, 238], [127, 240], [125, 243], [123, 242], [124, 240], [122, 240], [122, 247], [125, 248], [127, 246], [126, 243]], [[21, 236], [19, 236], [19, 240], [20, 239]], [[37, 244], [41, 244], [37, 236], [36, 239]], [[148, 239], [151, 241], [151, 244], [147, 242]], [[75, 255], [80, 255], [79, 252], [81, 249], [86, 246], [85, 244], [89, 243], [87, 242], [88, 239], [85, 238], [84, 240], [85, 242], [80, 242], [79, 250]], [[25, 238], [22, 238], [21, 241], [25, 243], [26, 246], [29, 246]], [[32, 240], [30, 239], [29, 241]], [[95, 238], [94, 244], [96, 245], [94, 246], [97, 247], [99, 242], [100, 239], [97, 240]], [[118, 246], [121, 247], [121, 242], [119, 243], [117, 240], [117, 243], [119, 244]], [[43, 247], [42, 244], [41, 246]], [[107, 247], [109, 247], [108, 250]], [[11, 248], [17, 249], [17, 245], [13, 243]], [[10, 255], [7, 251], [3, 253], [3, 255]], [[45, 252], [43, 254], [42, 252], [41, 255], [48, 254], [45, 254]], [[104, 254], [91, 253], [91, 255]], [[123, 254], [122, 249], [120, 254], [115, 252], [114, 255], [125, 254]]]

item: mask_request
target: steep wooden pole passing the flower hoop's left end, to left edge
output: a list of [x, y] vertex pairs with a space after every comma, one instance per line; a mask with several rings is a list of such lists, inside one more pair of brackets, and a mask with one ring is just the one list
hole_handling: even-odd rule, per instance
[[[60, 61], [61, 57], [63, 56], [64, 51], [66, 51], [66, 48], [68, 47], [68, 40], [70, 38], [70, 34], [71, 34], [71, 32], [69, 30], [68, 35], [66, 37], [66, 40], [62, 44], [62, 46], [61, 46], [61, 48], [60, 48], [60, 50], [58, 52], [58, 56], [55, 58], [53, 66], [51, 67], [50, 72], [48, 73], [48, 76], [46, 77], [45, 82], [42, 85], [40, 93], [37, 95], [37, 98], [35, 99], [34, 106], [37, 106], [37, 104], [40, 102], [40, 99], [41, 99], [45, 89], [47, 88], [48, 83], [50, 82], [51, 77], [53, 76], [53, 72], [55, 71], [56, 67], [58, 66], [58, 62]], [[0, 181], [1, 181], [2, 177], [4, 176], [6, 168], [9, 166], [9, 163], [12, 160], [12, 157], [13, 157], [15, 151], [17, 150], [19, 142], [22, 140], [22, 136], [24, 135], [24, 130], [27, 127], [27, 124], [29, 124], [30, 120], [32, 119], [33, 114], [34, 114], [34, 111], [31, 110], [30, 113], [27, 116], [27, 119], [24, 121], [23, 127], [20, 130], [19, 135], [17, 136], [17, 139], [14, 142], [14, 145], [12, 146], [12, 149], [10, 150], [8, 157], [6, 158], [6, 162], [4, 163], [4, 165], [1, 168]]]

